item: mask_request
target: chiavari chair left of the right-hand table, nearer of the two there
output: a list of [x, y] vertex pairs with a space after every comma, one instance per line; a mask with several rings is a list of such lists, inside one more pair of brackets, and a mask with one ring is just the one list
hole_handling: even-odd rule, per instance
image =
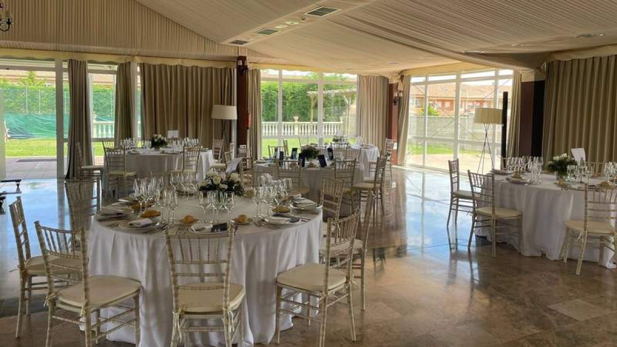
[[[471, 184], [471, 196], [473, 201], [473, 214], [471, 215], [471, 231], [467, 248], [471, 248], [471, 239], [476, 228], [489, 228], [492, 240], [493, 257], [497, 256], [497, 235], [518, 234], [518, 251], [523, 251], [523, 213], [513, 209], [495, 206], [495, 175], [475, 174], [468, 170]], [[508, 231], [511, 225], [507, 223], [515, 221], [517, 232]], [[502, 224], [502, 225], [498, 225]], [[497, 232], [497, 229], [505, 229], [505, 232]]]

